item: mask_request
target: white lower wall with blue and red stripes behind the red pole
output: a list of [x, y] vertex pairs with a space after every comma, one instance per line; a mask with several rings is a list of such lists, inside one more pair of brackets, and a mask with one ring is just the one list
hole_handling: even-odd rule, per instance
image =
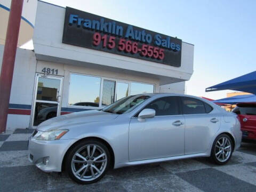
[[[0, 70], [4, 46], [0, 45]], [[36, 57], [31, 50], [17, 49], [6, 130], [29, 127], [34, 93]]]

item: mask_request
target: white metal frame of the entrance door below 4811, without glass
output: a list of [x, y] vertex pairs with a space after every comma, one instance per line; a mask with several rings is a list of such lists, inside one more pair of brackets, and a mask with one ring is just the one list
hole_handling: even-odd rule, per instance
[[[58, 95], [58, 96], [60, 96], [59, 101], [45, 101], [45, 100], [37, 100], [36, 99], [39, 77], [60, 80], [60, 90], [59, 90], [59, 95]], [[32, 106], [31, 106], [31, 114], [30, 114], [30, 121], [29, 121], [29, 128], [30, 129], [36, 129], [36, 127], [37, 127], [37, 126], [34, 126], [34, 117], [35, 117], [34, 112], [35, 112], [36, 102], [45, 102], [45, 103], [55, 103], [55, 104], [57, 104], [58, 105], [57, 106], [57, 116], [60, 116], [61, 101], [62, 101], [62, 84], [63, 84], [63, 77], [61, 77], [61, 76], [54, 76], [54, 75], [46, 75], [46, 74], [36, 73], [36, 75], [35, 75], [35, 84], [34, 84], [34, 93], [33, 93], [33, 102], [32, 102]]]

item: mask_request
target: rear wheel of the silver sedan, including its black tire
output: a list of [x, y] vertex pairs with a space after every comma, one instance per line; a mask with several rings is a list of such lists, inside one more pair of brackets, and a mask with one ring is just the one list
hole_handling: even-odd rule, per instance
[[211, 161], [218, 165], [229, 162], [233, 154], [233, 141], [227, 134], [220, 134], [213, 142]]

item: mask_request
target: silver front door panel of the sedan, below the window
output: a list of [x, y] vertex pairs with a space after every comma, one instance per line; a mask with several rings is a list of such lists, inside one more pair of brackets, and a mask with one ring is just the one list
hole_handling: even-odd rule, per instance
[[129, 160], [184, 155], [184, 121], [183, 115], [132, 118], [129, 127]]

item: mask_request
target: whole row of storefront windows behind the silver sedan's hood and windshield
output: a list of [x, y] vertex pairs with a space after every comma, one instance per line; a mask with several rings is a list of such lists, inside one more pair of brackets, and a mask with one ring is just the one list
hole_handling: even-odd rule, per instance
[[153, 92], [150, 84], [71, 74], [68, 105], [105, 107], [129, 95]]

